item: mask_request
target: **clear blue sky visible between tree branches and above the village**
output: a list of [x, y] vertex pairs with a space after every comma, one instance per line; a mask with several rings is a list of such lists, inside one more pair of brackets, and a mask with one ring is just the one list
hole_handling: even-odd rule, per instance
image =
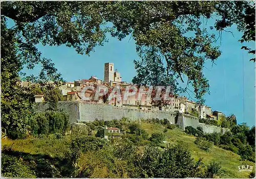
[[[214, 19], [208, 20], [207, 26], [213, 22]], [[221, 44], [220, 39], [216, 42], [220, 46], [222, 55], [216, 60], [216, 65], [212, 65], [210, 61], [205, 64], [204, 72], [210, 84], [210, 94], [205, 95], [206, 105], [226, 115], [234, 114], [238, 123], [247, 122], [252, 126], [255, 117], [255, 64], [249, 59], [253, 56], [241, 49], [242, 44], [238, 40], [242, 33], [238, 32], [234, 25], [226, 30], [233, 32], [234, 37], [231, 33], [222, 32]], [[218, 32], [212, 30], [211, 33], [215, 33], [218, 37]], [[255, 46], [253, 42], [244, 45]], [[64, 45], [58, 47], [38, 45], [38, 49], [42, 52], [42, 56], [52, 59], [66, 81], [89, 79], [91, 75], [103, 79], [104, 63], [112, 62], [115, 64], [115, 69], [121, 73], [122, 80], [131, 82], [136, 75], [133, 60], [139, 59], [135, 41], [130, 39], [130, 36], [122, 41], [109, 37], [109, 42], [104, 46], [97, 46], [90, 57], [78, 55], [73, 48]], [[39, 66], [36, 66], [33, 72], [37, 70]], [[25, 70], [25, 72], [29, 71]]]

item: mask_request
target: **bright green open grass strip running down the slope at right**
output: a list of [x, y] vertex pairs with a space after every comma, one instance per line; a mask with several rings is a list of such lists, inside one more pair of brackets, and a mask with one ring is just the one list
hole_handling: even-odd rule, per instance
[[[143, 123], [142, 129], [146, 130], [146, 132], [150, 134], [155, 132], [164, 133], [164, 127], [160, 124]], [[202, 161], [204, 164], [209, 164], [211, 161], [219, 162], [222, 166], [222, 174], [220, 175], [220, 177], [222, 178], [248, 178], [250, 174], [250, 172], [248, 171], [238, 171], [238, 166], [242, 165], [244, 161], [240, 161], [240, 156], [232, 151], [225, 150], [217, 146], [212, 147], [208, 152], [204, 151], [198, 148], [197, 145], [194, 143], [194, 141], [196, 140], [194, 136], [187, 135], [179, 129], [168, 130], [164, 134], [166, 135], [165, 141], [167, 144], [182, 142], [189, 148], [191, 156], [195, 160], [203, 158]], [[248, 161], [246, 162], [246, 164], [255, 166], [254, 163]]]

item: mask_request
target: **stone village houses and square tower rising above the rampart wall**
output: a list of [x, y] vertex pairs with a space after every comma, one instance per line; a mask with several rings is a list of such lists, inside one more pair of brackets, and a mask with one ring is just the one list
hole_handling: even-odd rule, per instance
[[[26, 85], [26, 82], [23, 82]], [[93, 86], [97, 88], [98, 86], [105, 86], [111, 91], [114, 87], [119, 86], [121, 91], [124, 91], [127, 86], [132, 86], [132, 84], [122, 81], [122, 77], [117, 70], [114, 70], [114, 63], [104, 64], [104, 80], [98, 79], [96, 76], [91, 76], [90, 79], [75, 80], [74, 82], [65, 82], [65, 85], [59, 87], [62, 93], [63, 101], [81, 101], [81, 91], [86, 86]], [[95, 91], [86, 90], [85, 96], [91, 96]], [[44, 101], [44, 95], [35, 95], [35, 101], [37, 103]], [[122, 108], [132, 108], [148, 111], [165, 111], [165, 112], [179, 112], [184, 114], [189, 114], [201, 119], [210, 120], [221, 120], [225, 115], [220, 111], [212, 111], [211, 107], [200, 106], [195, 103], [195, 101], [187, 99], [185, 96], [174, 96], [169, 104], [164, 107], [155, 107], [151, 103], [152, 99], [147, 97], [142, 97], [138, 100], [138, 95], [127, 96], [126, 100], [123, 98], [123, 93], [117, 97], [107, 100], [103, 97], [94, 101], [98, 104], [108, 104], [116, 107]]]

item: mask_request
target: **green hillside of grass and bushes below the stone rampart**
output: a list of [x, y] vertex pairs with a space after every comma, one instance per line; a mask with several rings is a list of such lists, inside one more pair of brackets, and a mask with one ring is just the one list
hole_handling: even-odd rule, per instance
[[[126, 134], [110, 141], [95, 137], [104, 124]], [[253, 162], [215, 145], [201, 149], [195, 140], [176, 125], [126, 119], [88, 122], [84, 130], [72, 129], [64, 136], [2, 139], [2, 173], [6, 177], [249, 177], [250, 172], [239, 172], [238, 166], [254, 166]]]

